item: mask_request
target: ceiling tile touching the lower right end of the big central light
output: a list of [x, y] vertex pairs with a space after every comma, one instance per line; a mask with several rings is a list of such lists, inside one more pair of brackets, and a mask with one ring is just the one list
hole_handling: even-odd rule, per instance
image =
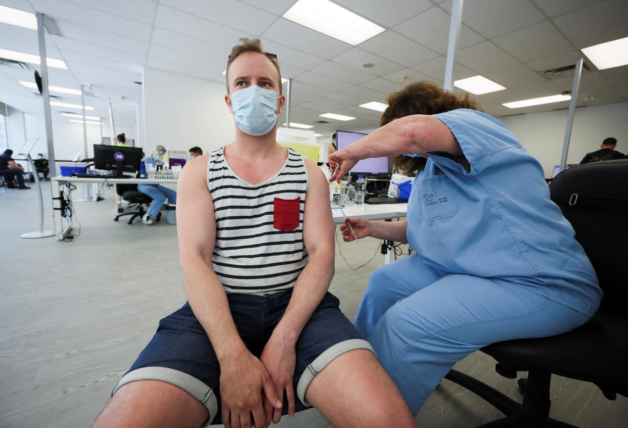
[[379, 55], [406, 67], [440, 56], [425, 46], [414, 43], [394, 31], [384, 31], [360, 43], [360, 49]]

